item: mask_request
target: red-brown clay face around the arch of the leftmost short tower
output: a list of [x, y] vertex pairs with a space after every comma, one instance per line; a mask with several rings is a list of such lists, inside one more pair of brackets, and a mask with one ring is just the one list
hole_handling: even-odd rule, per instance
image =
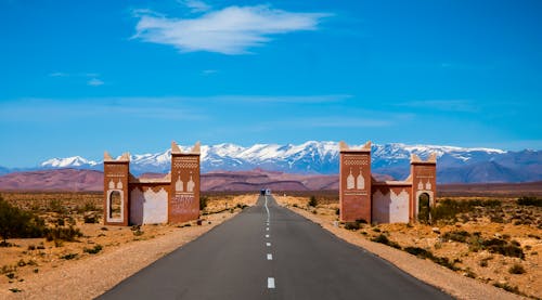
[[[130, 196], [128, 193], [128, 181], [130, 167], [128, 161], [104, 162], [104, 224], [127, 226], [129, 223]], [[121, 218], [109, 218], [108, 195], [117, 191], [122, 197]]]

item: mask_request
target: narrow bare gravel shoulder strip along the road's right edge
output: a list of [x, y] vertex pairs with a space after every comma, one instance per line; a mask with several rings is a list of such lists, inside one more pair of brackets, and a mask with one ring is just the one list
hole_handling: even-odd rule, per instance
[[[280, 199], [278, 199], [280, 200]], [[373, 243], [361, 237], [360, 234], [336, 227], [332, 222], [307, 210], [288, 207], [300, 216], [320, 224], [337, 237], [364, 248], [374, 255], [389, 261], [412, 276], [444, 290], [459, 299], [526, 299], [488, 284], [477, 282], [454, 273], [453, 271], [438, 265], [431, 261], [418, 259], [408, 252], [397, 250], [383, 244]]]

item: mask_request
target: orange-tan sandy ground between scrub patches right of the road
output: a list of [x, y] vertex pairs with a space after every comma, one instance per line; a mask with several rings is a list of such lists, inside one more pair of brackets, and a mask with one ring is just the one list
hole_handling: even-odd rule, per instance
[[[423, 282], [426, 282], [433, 286], [436, 286], [447, 291], [448, 294], [452, 295], [453, 297], [456, 297], [459, 299], [522, 299], [524, 298], [521, 296], [507, 292], [501, 288], [496, 288], [491, 284], [486, 284], [481, 281], [469, 278], [466, 276], [466, 274], [456, 273], [444, 266], [436, 264], [429, 260], [418, 259], [405, 251], [398, 250], [392, 247], [378, 243], [373, 243], [370, 240], [372, 236], [380, 234], [382, 232], [387, 232], [387, 234], [390, 235], [390, 239], [397, 240], [399, 244], [401, 244], [401, 246], [416, 245], [416, 243], [418, 244], [418, 246], [423, 246], [420, 244], [427, 243], [427, 239], [431, 238], [436, 239], [435, 238], [436, 234], [431, 231], [430, 226], [414, 225], [412, 227], [406, 227], [405, 224], [383, 224], [377, 226], [378, 233], [372, 232], [371, 225], [365, 225], [365, 227], [363, 227], [360, 231], [349, 231], [344, 229], [343, 225], [338, 225], [338, 222], [336, 222], [338, 218], [335, 213], [335, 209], [338, 207], [338, 204], [323, 205], [321, 208], [318, 209], [313, 208], [308, 209], [307, 208], [308, 198], [306, 197], [279, 196], [275, 198], [281, 205], [304, 216], [305, 218], [313, 221], [314, 223], [320, 224], [323, 229], [330, 231], [339, 238], [343, 238], [344, 240], [350, 244], [360, 246], [366, 249], [367, 251], [373, 252], [374, 255], [389, 261], [393, 265], [413, 275], [414, 277]], [[441, 230], [446, 231], [447, 229], [441, 229]], [[487, 230], [487, 229], [479, 229], [479, 230]], [[400, 235], [402, 235], [401, 236], [402, 239], [398, 238]], [[466, 246], [455, 245], [452, 246], [452, 248], [453, 247], [466, 247]], [[447, 249], [444, 249], [443, 251], [447, 251]], [[448, 251], [450, 251], [450, 249], [448, 249]], [[453, 252], [453, 249], [451, 251]], [[455, 255], [456, 252], [453, 253]], [[479, 255], [489, 256], [489, 253], [487, 252]], [[472, 261], [468, 261], [468, 258], [465, 259], [463, 257], [462, 259], [467, 260], [463, 261], [465, 265], [469, 263], [477, 264]], [[494, 260], [495, 260], [494, 268], [487, 268], [487, 270], [489, 270], [488, 272], [507, 273], [506, 271], [503, 271], [502, 261], [519, 260], [519, 259], [495, 256]], [[525, 282], [527, 282], [527, 284], [524, 284], [520, 287], [520, 290], [524, 292], [528, 292], [533, 297], [540, 297], [539, 296], [541, 292], [540, 289], [541, 277], [539, 276], [540, 264], [537, 263], [531, 263], [531, 264], [532, 265], [528, 265], [526, 274], [527, 276], [525, 276]], [[476, 269], [475, 271], [479, 272], [478, 269]], [[518, 275], [509, 275], [509, 276], [518, 276]]]

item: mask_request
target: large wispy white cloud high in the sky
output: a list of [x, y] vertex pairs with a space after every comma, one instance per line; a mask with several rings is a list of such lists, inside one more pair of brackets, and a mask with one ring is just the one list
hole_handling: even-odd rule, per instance
[[235, 55], [271, 41], [270, 36], [315, 30], [324, 13], [292, 13], [266, 5], [229, 6], [197, 18], [172, 18], [138, 10], [134, 38], [170, 44], [181, 52], [207, 51]]

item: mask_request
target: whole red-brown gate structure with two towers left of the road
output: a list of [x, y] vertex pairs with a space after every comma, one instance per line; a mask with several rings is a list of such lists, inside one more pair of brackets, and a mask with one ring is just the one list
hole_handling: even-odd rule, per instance
[[199, 143], [183, 153], [171, 143], [171, 171], [163, 178], [136, 178], [130, 154], [104, 154], [104, 224], [181, 223], [199, 218]]

